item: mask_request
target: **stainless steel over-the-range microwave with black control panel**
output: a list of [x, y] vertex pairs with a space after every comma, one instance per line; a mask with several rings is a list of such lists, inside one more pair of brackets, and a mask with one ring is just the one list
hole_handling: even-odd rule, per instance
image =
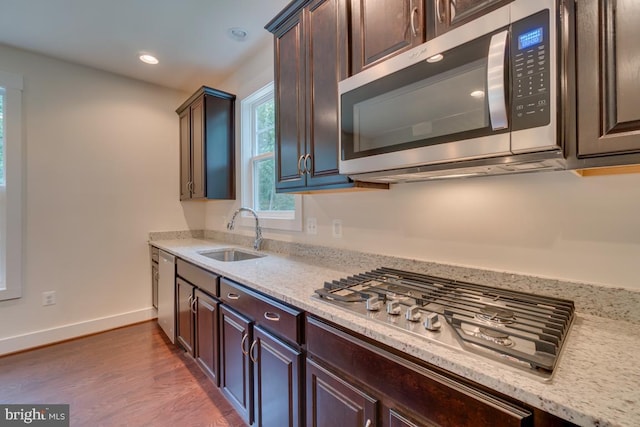
[[516, 0], [341, 81], [340, 173], [394, 183], [564, 169], [563, 4]]

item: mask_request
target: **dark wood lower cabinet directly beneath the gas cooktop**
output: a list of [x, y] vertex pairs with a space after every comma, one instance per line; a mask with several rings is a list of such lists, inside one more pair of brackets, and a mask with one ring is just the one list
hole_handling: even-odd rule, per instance
[[311, 316], [305, 332], [308, 426], [571, 425]]

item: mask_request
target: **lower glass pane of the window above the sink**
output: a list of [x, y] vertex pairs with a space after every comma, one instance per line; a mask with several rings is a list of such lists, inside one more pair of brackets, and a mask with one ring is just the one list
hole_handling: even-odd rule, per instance
[[295, 201], [291, 194], [278, 194], [275, 191], [274, 159], [254, 162], [254, 207], [258, 211], [292, 211]]

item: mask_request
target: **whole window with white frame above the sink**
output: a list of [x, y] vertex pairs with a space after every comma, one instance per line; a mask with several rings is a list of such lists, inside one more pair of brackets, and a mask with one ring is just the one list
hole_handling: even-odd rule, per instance
[[276, 193], [273, 83], [241, 101], [242, 205], [254, 209], [265, 228], [302, 230], [300, 196]]

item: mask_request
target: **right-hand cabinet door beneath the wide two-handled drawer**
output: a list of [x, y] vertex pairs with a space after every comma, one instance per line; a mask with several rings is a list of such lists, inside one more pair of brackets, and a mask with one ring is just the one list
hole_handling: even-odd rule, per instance
[[302, 353], [259, 326], [253, 331], [256, 426], [301, 426]]

